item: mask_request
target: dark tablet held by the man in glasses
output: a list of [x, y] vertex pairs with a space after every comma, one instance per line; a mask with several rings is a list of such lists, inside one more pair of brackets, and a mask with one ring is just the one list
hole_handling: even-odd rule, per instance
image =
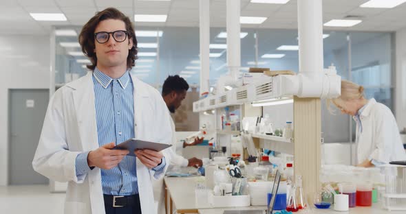
[[139, 139], [128, 139], [127, 141], [124, 141], [115, 147], [113, 147], [113, 150], [128, 150], [129, 151], [129, 156], [136, 156], [134, 154], [134, 151], [136, 150], [154, 150], [154, 151], [161, 151], [164, 150], [168, 147], [171, 147], [172, 145], [166, 144], [166, 143], [157, 143], [153, 141], [142, 141]]

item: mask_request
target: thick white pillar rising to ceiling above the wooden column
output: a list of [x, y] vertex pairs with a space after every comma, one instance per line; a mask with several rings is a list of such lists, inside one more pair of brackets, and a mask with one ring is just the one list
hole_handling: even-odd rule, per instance
[[297, 1], [299, 73], [323, 73], [323, 19], [321, 0]]

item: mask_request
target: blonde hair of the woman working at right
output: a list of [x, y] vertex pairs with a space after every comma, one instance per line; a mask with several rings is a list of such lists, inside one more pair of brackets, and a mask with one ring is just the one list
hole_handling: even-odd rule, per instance
[[361, 99], [364, 97], [364, 87], [350, 82], [348, 80], [341, 80], [341, 95], [334, 99], [327, 99], [327, 106], [330, 112], [330, 103], [333, 103], [335, 106], [343, 106], [343, 101], [348, 101], [351, 99]]

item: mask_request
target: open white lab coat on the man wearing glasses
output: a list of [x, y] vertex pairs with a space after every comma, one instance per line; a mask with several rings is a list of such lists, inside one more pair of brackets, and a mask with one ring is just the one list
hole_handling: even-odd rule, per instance
[[[171, 116], [162, 96], [155, 88], [131, 75], [134, 86], [134, 132], [138, 139], [171, 143]], [[76, 156], [96, 150], [98, 145], [96, 109], [92, 72], [60, 88], [45, 115], [39, 145], [32, 161], [34, 170], [60, 182], [68, 182], [65, 213], [104, 214], [100, 169], [76, 177]], [[171, 157], [162, 152], [167, 163]], [[151, 180], [164, 173], [149, 170], [137, 163], [138, 191], [142, 213], [156, 213]], [[167, 164], [168, 166], [169, 164]], [[167, 167], [165, 167], [165, 170]]]

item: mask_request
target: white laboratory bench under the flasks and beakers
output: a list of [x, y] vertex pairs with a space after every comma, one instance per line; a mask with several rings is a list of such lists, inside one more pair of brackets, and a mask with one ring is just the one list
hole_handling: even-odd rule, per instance
[[[240, 211], [239, 213], [244, 213], [242, 211], [249, 210], [265, 210], [266, 206], [248, 206], [248, 207], [235, 207], [235, 208], [207, 208], [199, 207], [195, 202], [195, 186], [198, 182], [202, 182], [204, 177], [186, 177], [186, 178], [175, 178], [175, 177], [165, 177], [164, 185], [166, 189], [165, 202], [169, 200], [169, 204], [165, 203], [167, 211], [173, 211], [173, 206], [175, 206], [176, 213], [200, 213], [200, 214], [220, 214], [224, 211]], [[334, 206], [334, 205], [332, 205]], [[171, 212], [169, 212], [171, 213]], [[387, 211], [381, 208], [381, 204], [373, 204], [372, 206], [361, 207], [356, 206], [350, 208], [348, 212], [334, 211], [332, 207], [330, 209], [315, 209], [312, 208], [310, 212], [299, 211], [297, 213], [356, 213], [356, 214], [386, 214], [386, 213], [406, 213], [405, 211]]]

